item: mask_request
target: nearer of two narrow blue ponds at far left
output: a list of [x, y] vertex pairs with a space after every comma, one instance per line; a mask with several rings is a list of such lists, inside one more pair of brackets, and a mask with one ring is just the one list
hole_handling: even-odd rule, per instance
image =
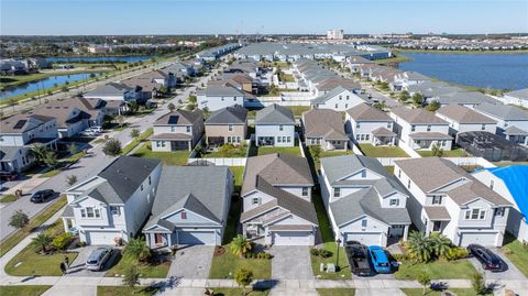
[[[100, 73], [95, 73], [95, 75], [100, 75]], [[79, 74], [70, 74], [70, 75], [57, 75], [47, 77], [41, 80], [31, 81], [24, 85], [19, 85], [14, 87], [7, 87], [4, 91], [0, 92], [0, 100], [8, 99], [13, 96], [24, 95], [26, 92], [41, 90], [43, 94], [43, 89], [51, 88], [54, 86], [62, 86], [65, 85], [66, 81], [75, 83], [81, 79], [87, 79], [90, 77], [89, 73], [79, 73]]]

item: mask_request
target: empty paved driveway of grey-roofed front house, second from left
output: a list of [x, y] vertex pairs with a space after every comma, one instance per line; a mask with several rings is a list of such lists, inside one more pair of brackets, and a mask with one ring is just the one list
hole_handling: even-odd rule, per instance
[[213, 252], [213, 245], [190, 245], [178, 249], [167, 277], [208, 278]]

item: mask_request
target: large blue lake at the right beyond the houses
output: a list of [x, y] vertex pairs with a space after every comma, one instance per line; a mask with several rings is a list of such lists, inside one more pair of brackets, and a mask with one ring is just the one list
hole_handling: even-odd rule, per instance
[[440, 80], [481, 88], [528, 88], [528, 54], [405, 53], [413, 61], [399, 69], [416, 70]]

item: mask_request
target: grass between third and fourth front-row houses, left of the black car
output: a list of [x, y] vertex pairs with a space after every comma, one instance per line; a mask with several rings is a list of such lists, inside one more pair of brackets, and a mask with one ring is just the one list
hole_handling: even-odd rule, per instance
[[317, 278], [321, 279], [339, 279], [351, 278], [351, 272], [349, 262], [346, 261], [346, 255], [344, 253], [344, 248], [339, 248], [339, 266], [341, 270], [338, 273], [326, 273], [320, 272], [320, 264], [321, 263], [336, 263], [337, 255], [338, 255], [338, 246], [336, 241], [333, 240], [332, 229], [330, 227], [330, 220], [328, 219], [327, 211], [324, 210], [324, 205], [322, 204], [322, 199], [319, 195], [312, 194], [314, 206], [316, 207], [317, 212], [317, 220], [319, 222], [319, 232], [321, 234], [321, 239], [323, 241], [323, 248], [330, 252], [332, 252], [332, 256], [327, 259], [321, 259], [319, 256], [312, 256], [311, 259], [311, 270], [314, 271], [314, 275]]

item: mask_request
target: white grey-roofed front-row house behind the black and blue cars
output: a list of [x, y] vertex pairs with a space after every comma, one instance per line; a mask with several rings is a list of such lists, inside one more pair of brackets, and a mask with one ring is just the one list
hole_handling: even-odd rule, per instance
[[409, 194], [376, 158], [323, 157], [319, 184], [336, 240], [382, 246], [407, 240]]

